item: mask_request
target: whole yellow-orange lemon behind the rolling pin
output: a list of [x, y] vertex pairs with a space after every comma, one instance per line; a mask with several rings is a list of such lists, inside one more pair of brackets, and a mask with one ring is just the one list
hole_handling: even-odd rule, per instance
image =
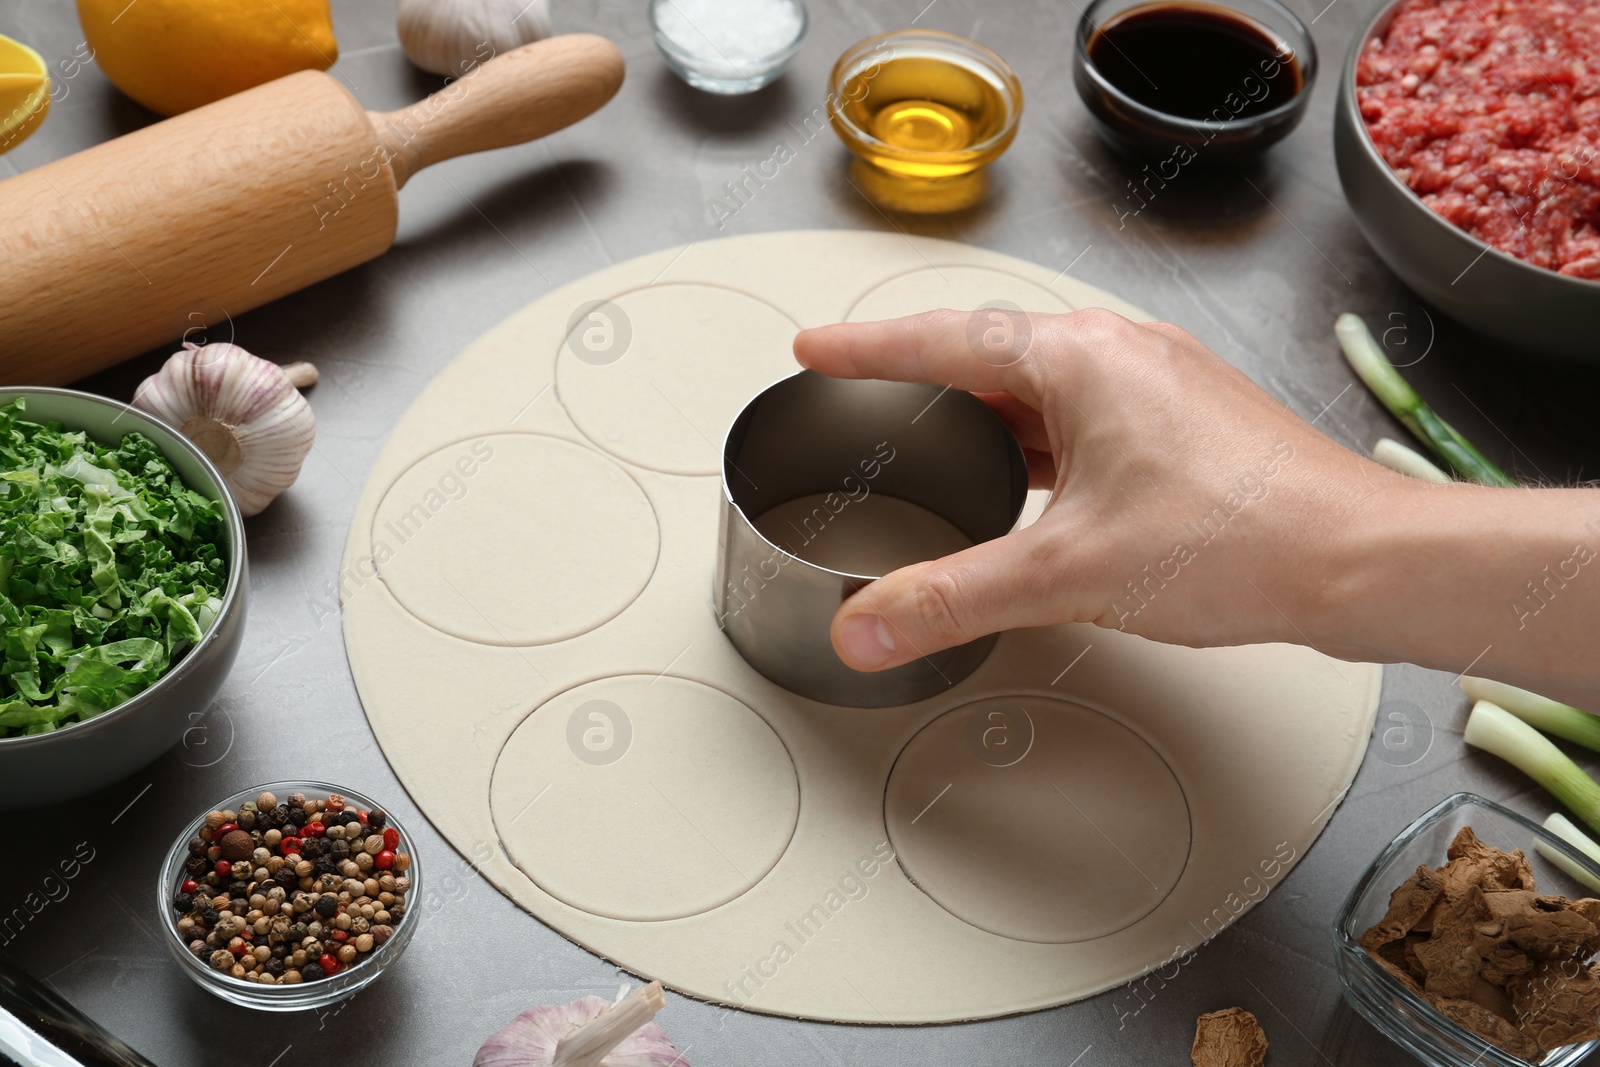
[[328, 0], [78, 0], [78, 21], [110, 83], [162, 115], [339, 58]]

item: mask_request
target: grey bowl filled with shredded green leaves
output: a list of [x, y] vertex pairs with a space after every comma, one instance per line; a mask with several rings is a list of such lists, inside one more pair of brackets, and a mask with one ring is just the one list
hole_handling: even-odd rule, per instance
[[0, 809], [109, 785], [178, 744], [245, 633], [245, 528], [171, 426], [0, 389]]

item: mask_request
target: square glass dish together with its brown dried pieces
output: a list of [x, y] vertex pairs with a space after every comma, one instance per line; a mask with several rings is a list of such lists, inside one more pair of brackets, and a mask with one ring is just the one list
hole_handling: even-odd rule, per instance
[[1386, 848], [1333, 925], [1344, 998], [1437, 1067], [1568, 1067], [1600, 1046], [1600, 865], [1456, 793]]

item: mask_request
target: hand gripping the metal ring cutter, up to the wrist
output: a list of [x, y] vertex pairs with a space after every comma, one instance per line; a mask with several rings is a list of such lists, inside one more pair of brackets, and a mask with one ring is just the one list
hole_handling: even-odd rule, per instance
[[[1325, 545], [1400, 475], [1322, 437], [1186, 331], [1107, 310], [1032, 315], [1026, 350], [970, 342], [971, 315], [808, 330], [838, 378], [979, 394], [1053, 491], [1032, 526], [894, 571], [851, 597], [834, 646], [864, 670], [994, 630], [1094, 622], [1184, 645], [1301, 640]], [[1331, 397], [1330, 397], [1331, 400]], [[1302, 616], [1304, 622], [1298, 622]]]

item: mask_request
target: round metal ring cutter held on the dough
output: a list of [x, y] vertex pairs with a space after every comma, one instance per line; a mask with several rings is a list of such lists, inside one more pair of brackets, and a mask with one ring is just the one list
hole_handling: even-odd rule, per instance
[[722, 453], [717, 621], [760, 673], [824, 704], [890, 707], [938, 696], [976, 670], [997, 640], [990, 633], [878, 672], [853, 670], [834, 653], [829, 625], [838, 605], [882, 574], [808, 561], [757, 523], [774, 507], [819, 496], [821, 530], [870, 494], [933, 512], [979, 544], [1016, 525], [1027, 462], [987, 405], [939, 386], [800, 371], [744, 406]]

